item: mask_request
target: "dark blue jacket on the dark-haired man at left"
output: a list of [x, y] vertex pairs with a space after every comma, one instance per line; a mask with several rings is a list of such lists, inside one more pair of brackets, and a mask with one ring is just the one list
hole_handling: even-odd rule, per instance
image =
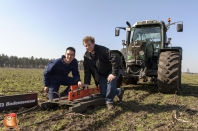
[[70, 72], [72, 72], [75, 83], [80, 81], [78, 61], [74, 58], [70, 64], [66, 64], [63, 58], [65, 58], [64, 55], [47, 65], [43, 78], [45, 86], [49, 86], [49, 84], [61, 84], [68, 77]]

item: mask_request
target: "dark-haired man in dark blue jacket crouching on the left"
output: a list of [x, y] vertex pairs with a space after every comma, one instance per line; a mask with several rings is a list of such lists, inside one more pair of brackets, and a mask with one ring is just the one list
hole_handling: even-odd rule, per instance
[[[69, 77], [68, 74], [72, 72], [73, 77]], [[68, 95], [70, 85], [78, 84], [79, 87], [83, 86], [80, 80], [80, 74], [78, 71], [78, 61], [75, 58], [75, 49], [68, 47], [65, 55], [61, 58], [50, 62], [44, 71], [45, 85], [44, 92], [48, 93], [50, 100], [58, 98], [58, 91], [60, 85], [68, 86], [60, 96]]]

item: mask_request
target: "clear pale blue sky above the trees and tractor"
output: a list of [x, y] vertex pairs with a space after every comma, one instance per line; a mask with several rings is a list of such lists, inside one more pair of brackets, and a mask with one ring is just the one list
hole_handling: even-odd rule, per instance
[[57, 59], [67, 47], [83, 60], [82, 39], [121, 50], [126, 32], [115, 27], [142, 20], [183, 21], [183, 32], [172, 25], [172, 46], [183, 48], [182, 71], [198, 72], [197, 0], [0, 0], [0, 54]]

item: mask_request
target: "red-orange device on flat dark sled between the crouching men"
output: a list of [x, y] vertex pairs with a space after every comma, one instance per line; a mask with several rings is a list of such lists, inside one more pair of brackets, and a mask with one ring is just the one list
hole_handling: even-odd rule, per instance
[[68, 96], [39, 103], [44, 110], [58, 106], [69, 106], [69, 111], [82, 113], [95, 106], [105, 104], [105, 99], [100, 96], [100, 88], [79, 88], [77, 85], [70, 86]]

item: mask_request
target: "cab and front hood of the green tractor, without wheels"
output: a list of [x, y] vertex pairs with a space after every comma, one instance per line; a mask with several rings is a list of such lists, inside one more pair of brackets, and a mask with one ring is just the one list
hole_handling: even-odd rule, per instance
[[158, 56], [164, 45], [161, 24], [164, 23], [146, 20], [133, 25], [130, 42], [125, 44], [127, 73], [139, 74], [139, 78], [142, 78], [146, 70], [157, 70]]

